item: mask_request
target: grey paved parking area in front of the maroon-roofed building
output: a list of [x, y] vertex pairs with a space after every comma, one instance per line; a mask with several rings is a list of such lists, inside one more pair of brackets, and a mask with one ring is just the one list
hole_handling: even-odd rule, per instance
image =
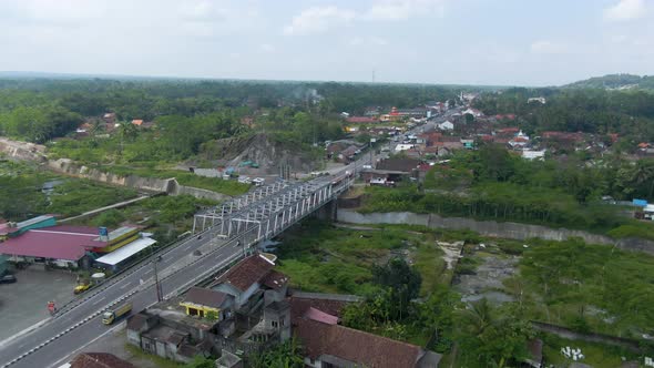
[[75, 274], [38, 266], [14, 272], [14, 284], [0, 284], [0, 341], [50, 317], [49, 300], [57, 305], [73, 298]]

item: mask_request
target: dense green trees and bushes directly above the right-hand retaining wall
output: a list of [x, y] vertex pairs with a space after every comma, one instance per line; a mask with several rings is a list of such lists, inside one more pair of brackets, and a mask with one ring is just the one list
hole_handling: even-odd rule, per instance
[[606, 194], [651, 200], [652, 183], [654, 160], [589, 167], [574, 160], [524, 161], [502, 147], [484, 145], [432, 168], [422, 191], [412, 185], [369, 187], [361, 211], [437, 213], [654, 239], [654, 224], [629, 218], [621, 213], [623, 207], [600, 200]]

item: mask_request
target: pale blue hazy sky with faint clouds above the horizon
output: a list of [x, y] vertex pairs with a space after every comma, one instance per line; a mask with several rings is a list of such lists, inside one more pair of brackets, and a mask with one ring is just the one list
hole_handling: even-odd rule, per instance
[[0, 0], [0, 71], [538, 86], [653, 69], [654, 0]]

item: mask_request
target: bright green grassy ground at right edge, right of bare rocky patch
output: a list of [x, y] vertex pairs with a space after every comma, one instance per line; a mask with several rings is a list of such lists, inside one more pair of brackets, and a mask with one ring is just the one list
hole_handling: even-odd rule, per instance
[[622, 337], [654, 333], [652, 256], [578, 239], [538, 242], [523, 252], [518, 278], [534, 300], [533, 319]]

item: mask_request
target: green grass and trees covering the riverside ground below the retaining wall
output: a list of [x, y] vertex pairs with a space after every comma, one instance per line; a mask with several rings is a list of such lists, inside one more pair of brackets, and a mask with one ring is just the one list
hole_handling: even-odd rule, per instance
[[[566, 345], [582, 347], [584, 362], [607, 361], [600, 367], [621, 356], [635, 358], [620, 348], [537, 334], [530, 320], [636, 340], [654, 334], [654, 300], [648, 299], [654, 257], [579, 239], [517, 242], [422, 226], [369, 227], [374, 229], [304, 222], [284, 235], [277, 251], [278, 267], [294, 287], [366, 298], [345, 309], [346, 326], [426, 346], [466, 367], [515, 366], [528, 358], [527, 341], [535, 337], [545, 341], [546, 362], [563, 362], [559, 349]], [[487, 257], [520, 257], [519, 273], [489, 290], [514, 301], [481, 299], [466, 307], [449, 287], [451, 276], [436, 239], [467, 242], [458, 275], [474, 275]], [[474, 251], [479, 243], [486, 249]]]

